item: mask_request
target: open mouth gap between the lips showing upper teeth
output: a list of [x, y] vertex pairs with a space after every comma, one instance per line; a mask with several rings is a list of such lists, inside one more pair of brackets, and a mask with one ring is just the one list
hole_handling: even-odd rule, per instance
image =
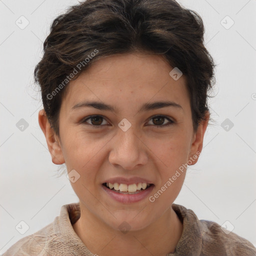
[[137, 194], [141, 191], [147, 190], [149, 187], [152, 187], [152, 183], [133, 183], [133, 184], [123, 184], [123, 183], [102, 183], [103, 186], [117, 193], [121, 194]]

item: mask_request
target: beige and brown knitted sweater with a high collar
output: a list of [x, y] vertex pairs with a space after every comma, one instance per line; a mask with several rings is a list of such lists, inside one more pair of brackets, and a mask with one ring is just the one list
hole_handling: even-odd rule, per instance
[[[175, 252], [169, 253], [169, 256], [256, 255], [256, 248], [248, 240], [233, 232], [226, 234], [215, 222], [198, 220], [192, 210], [182, 205], [172, 204], [172, 208], [183, 222], [183, 232]], [[2, 256], [95, 255], [87, 249], [72, 228], [79, 217], [79, 203], [63, 205], [59, 216], [52, 223], [18, 240]]]

